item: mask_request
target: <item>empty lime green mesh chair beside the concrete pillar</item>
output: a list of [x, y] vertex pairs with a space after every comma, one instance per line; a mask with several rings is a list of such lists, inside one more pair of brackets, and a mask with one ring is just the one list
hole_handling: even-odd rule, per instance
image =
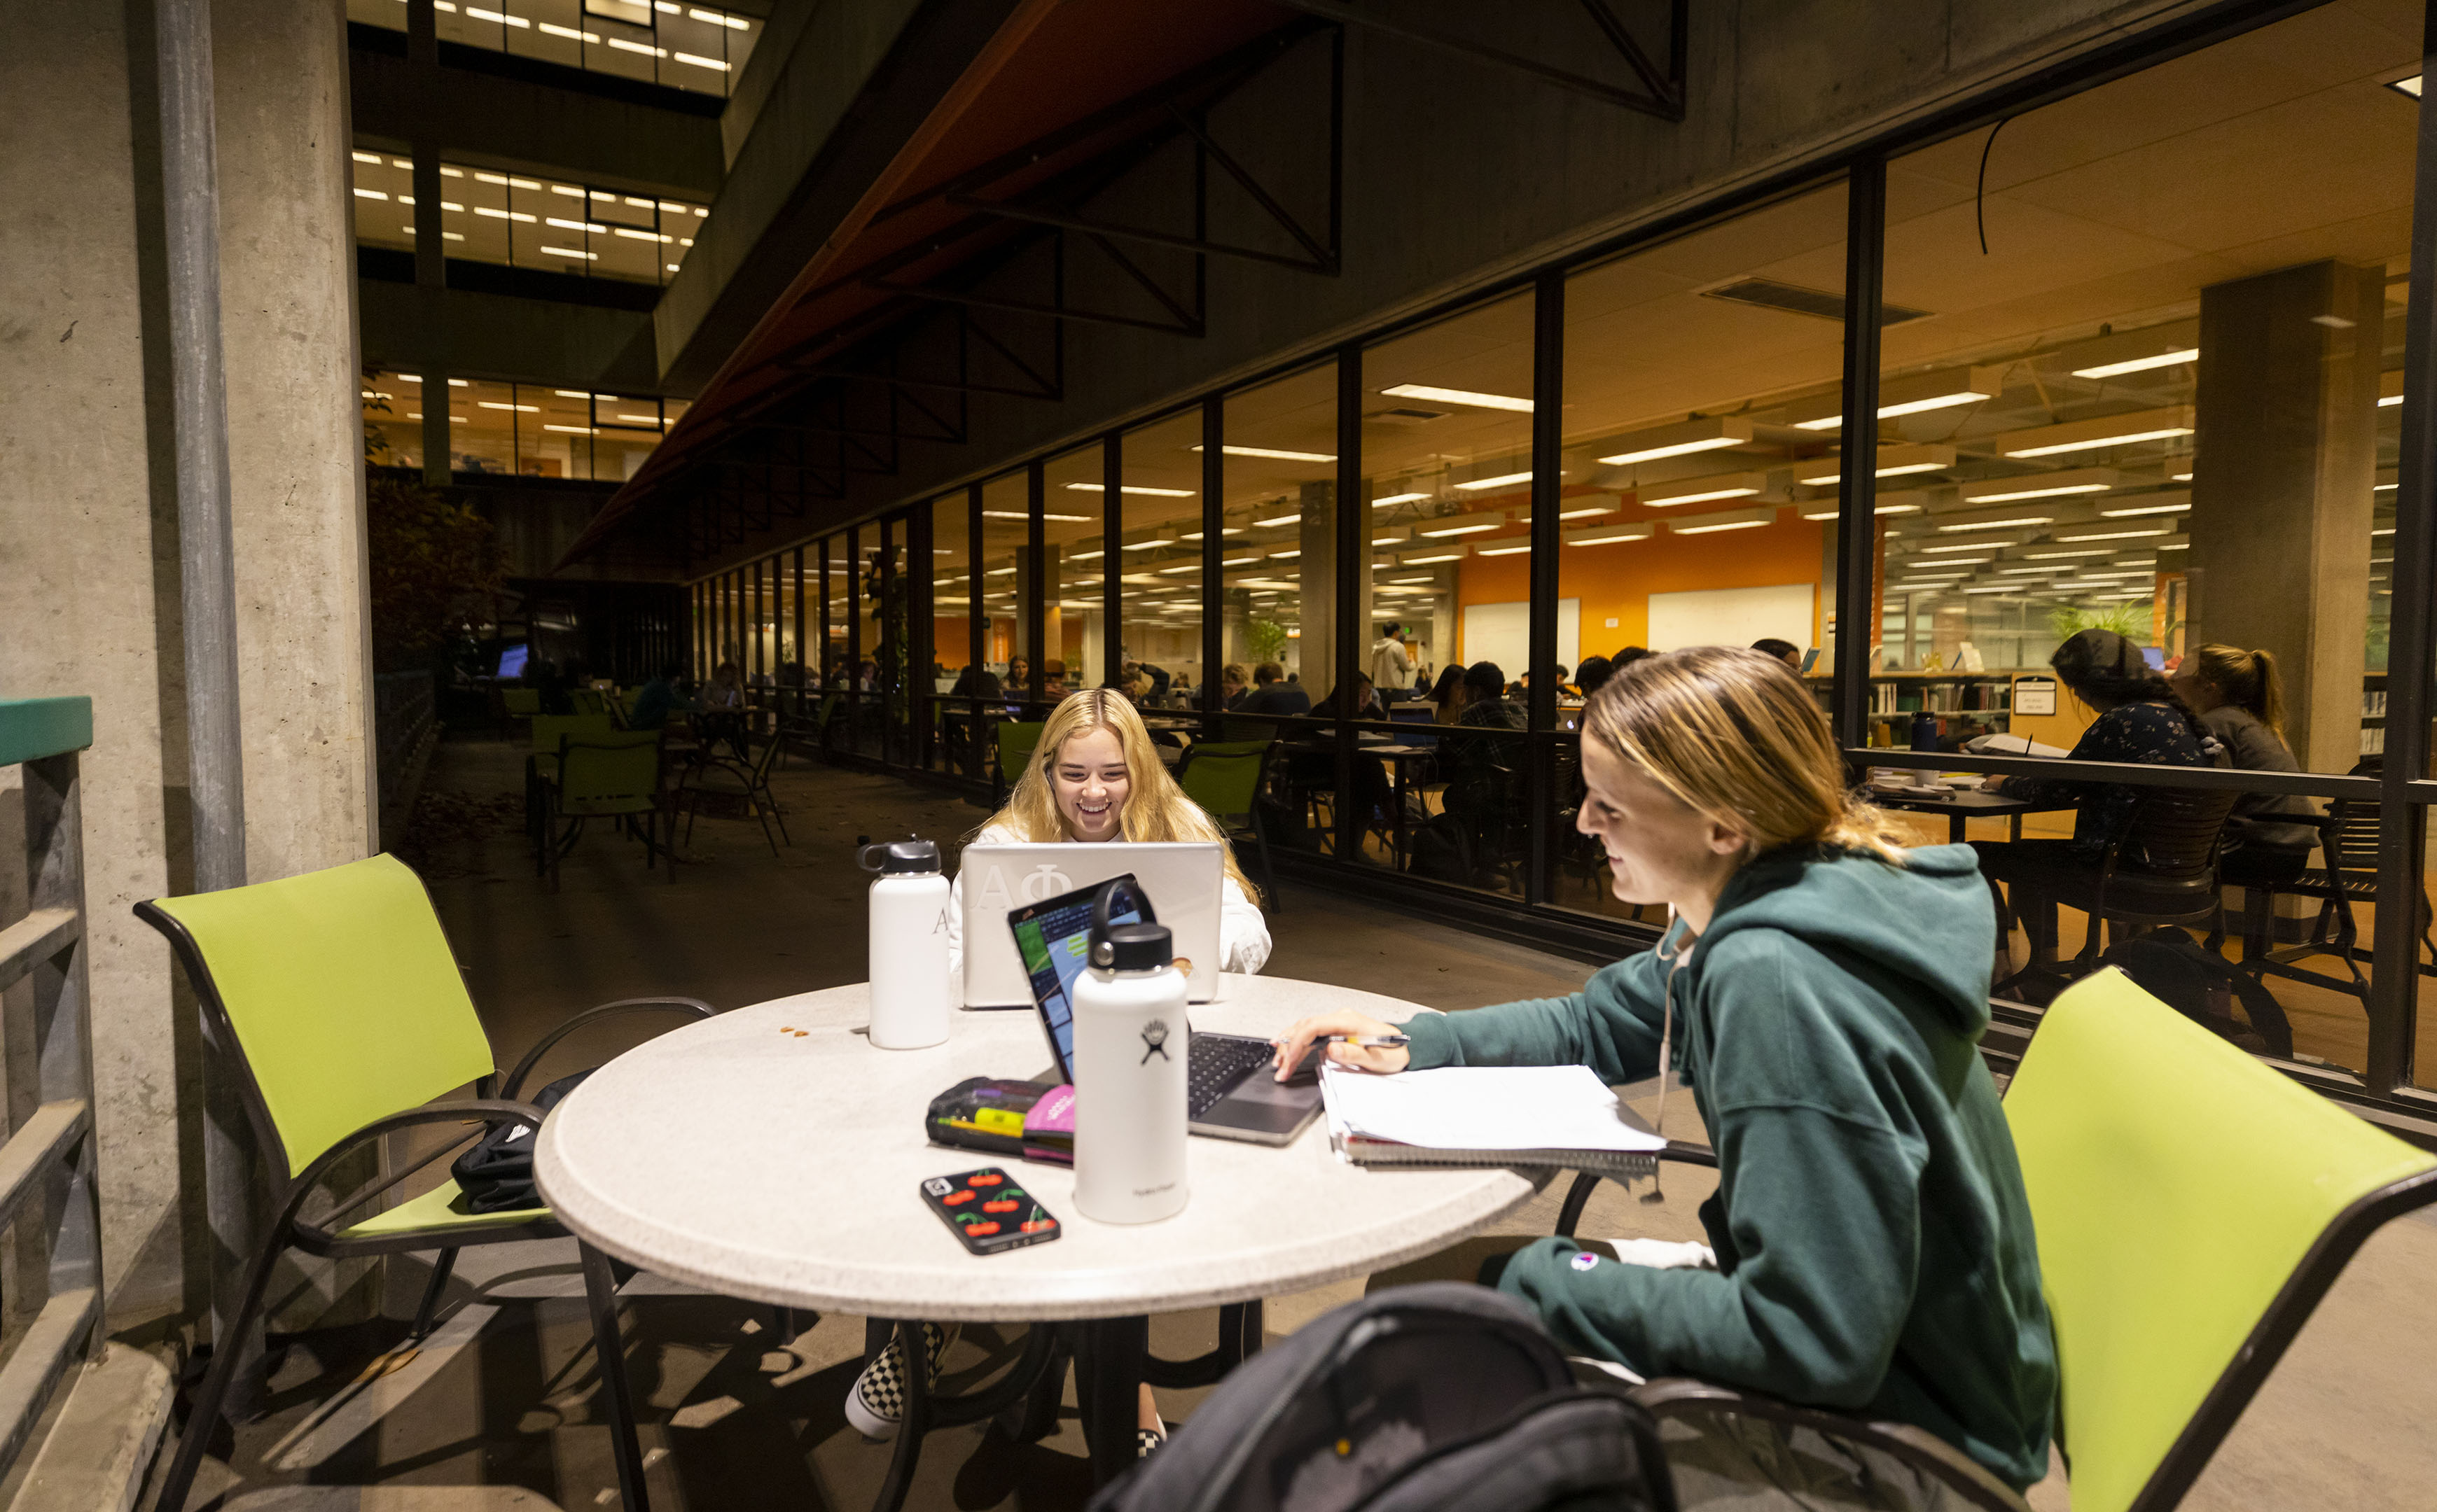
[[[154, 898], [136, 903], [136, 918], [168, 937], [202, 1001], [210, 1037], [234, 1045], [236, 1054], [229, 1059], [239, 1066], [236, 1091], [271, 1171], [275, 1217], [261, 1249], [246, 1256], [232, 1339], [246, 1337], [261, 1315], [273, 1264], [285, 1249], [327, 1259], [439, 1251], [414, 1310], [412, 1337], [429, 1334], [458, 1249], [561, 1239], [568, 1230], [551, 1220], [548, 1208], [473, 1213], [453, 1178], [395, 1208], [353, 1217], [458, 1144], [305, 1217], [314, 1188], [344, 1159], [400, 1130], [473, 1120], [539, 1130], [541, 1113], [517, 1101], [524, 1079], [580, 1027], [626, 1013], [712, 1015], [707, 1003], [692, 998], [604, 1003], [543, 1035], [502, 1083], [431, 898], [422, 879], [387, 855], [285, 881]], [[431, 1101], [468, 1083], [475, 1088], [470, 1101]], [[582, 1244], [580, 1254], [619, 1493], [629, 1512], [643, 1512], [643, 1461], [619, 1351], [617, 1281], [597, 1249]], [[185, 1507], [239, 1354], [214, 1351], [156, 1512]]]

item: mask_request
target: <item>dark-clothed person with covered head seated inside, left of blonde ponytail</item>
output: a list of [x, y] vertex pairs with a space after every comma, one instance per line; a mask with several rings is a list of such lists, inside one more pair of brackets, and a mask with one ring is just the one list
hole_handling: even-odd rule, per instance
[[[2140, 762], [2145, 767], [2223, 767], [2225, 747], [2184, 704], [2142, 650], [2115, 631], [2079, 631], [2047, 665], [2057, 682], [2098, 711], [2067, 752], [2074, 762]], [[2145, 791], [2123, 782], [2069, 777], [1991, 777], [1989, 791], [2040, 808], [2079, 808], [2071, 840], [1974, 840], [1981, 874], [2006, 884], [2013, 913], [2045, 933], [2054, 898], [2089, 898], [2108, 842], [2132, 828]], [[2003, 947], [2003, 940], [1998, 940]], [[2037, 952], [2037, 940], [2035, 940]]]

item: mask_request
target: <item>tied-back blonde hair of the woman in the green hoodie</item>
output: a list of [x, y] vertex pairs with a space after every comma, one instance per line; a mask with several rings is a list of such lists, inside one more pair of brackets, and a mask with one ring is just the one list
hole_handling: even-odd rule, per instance
[[1828, 718], [1794, 670], [1725, 645], [1618, 667], [1582, 728], [1706, 818], [1752, 838], [1750, 855], [1825, 845], [1903, 864], [1886, 816], [1845, 789]]

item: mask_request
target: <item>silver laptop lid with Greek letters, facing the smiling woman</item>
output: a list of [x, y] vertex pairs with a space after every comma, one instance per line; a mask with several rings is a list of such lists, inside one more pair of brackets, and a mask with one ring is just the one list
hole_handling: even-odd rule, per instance
[[1075, 889], [1133, 874], [1150, 894], [1160, 923], [1192, 962], [1187, 996], [1218, 996], [1218, 842], [1172, 840], [1136, 845], [967, 845], [958, 862], [965, 884], [965, 1008], [1031, 1008], [1033, 984], [1016, 959], [1006, 911], [1045, 903]]

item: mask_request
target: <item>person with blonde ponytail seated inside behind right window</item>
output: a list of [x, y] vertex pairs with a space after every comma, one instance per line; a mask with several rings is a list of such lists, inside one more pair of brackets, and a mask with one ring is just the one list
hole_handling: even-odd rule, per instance
[[[2276, 657], [2240, 645], [2201, 645], [2166, 677], [2201, 716], [2237, 772], [2301, 772], [2283, 743], [2283, 679]], [[2281, 886], [2310, 864], [2318, 808], [2301, 794], [2242, 794], [2225, 821], [2218, 881]]]

